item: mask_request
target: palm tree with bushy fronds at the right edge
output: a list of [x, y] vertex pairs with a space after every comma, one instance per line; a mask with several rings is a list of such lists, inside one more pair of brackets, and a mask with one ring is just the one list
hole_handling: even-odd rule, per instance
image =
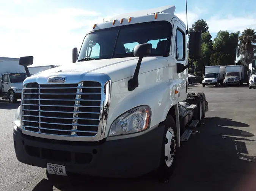
[[241, 56], [243, 65], [248, 66], [254, 59], [256, 53], [256, 31], [247, 28], [239, 37], [239, 47], [237, 48], [237, 56]]

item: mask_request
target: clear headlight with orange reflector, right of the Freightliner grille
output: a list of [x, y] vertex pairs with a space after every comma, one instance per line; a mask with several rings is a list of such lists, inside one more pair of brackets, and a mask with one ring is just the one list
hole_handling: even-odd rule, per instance
[[141, 132], [150, 126], [151, 109], [148, 106], [133, 108], [120, 117], [111, 125], [108, 136], [117, 136], [135, 132]]

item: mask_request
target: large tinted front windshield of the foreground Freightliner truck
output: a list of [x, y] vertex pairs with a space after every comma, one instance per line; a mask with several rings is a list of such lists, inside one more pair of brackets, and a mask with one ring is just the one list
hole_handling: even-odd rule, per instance
[[134, 47], [152, 44], [151, 56], [168, 56], [172, 26], [166, 21], [138, 23], [94, 31], [85, 36], [78, 62], [133, 57]]

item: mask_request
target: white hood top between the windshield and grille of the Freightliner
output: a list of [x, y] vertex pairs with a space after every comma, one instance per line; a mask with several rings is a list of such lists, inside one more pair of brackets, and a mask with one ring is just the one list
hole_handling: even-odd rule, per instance
[[[53, 75], [58, 75], [59, 72], [93, 72], [107, 74], [112, 79], [112, 82], [116, 82], [118, 80], [132, 77], [137, 62], [137, 57], [90, 60], [48, 69], [33, 76], [51, 73], [54, 73]], [[141, 62], [139, 74], [167, 66], [168, 62], [165, 57], [144, 57]]]

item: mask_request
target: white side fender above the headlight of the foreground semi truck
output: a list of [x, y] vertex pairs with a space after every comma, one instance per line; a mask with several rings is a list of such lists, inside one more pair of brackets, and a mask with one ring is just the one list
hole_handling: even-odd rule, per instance
[[173, 83], [169, 80], [152, 84], [148, 84], [145, 81], [144, 86], [141, 85], [141, 80], [141, 87], [136, 88], [132, 92], [127, 91], [126, 81], [127, 79], [124, 79], [112, 83], [110, 108], [104, 137], [107, 137], [110, 126], [115, 119], [132, 108], [148, 105], [151, 108], [150, 126], [153, 127], [163, 122], [171, 106], [178, 103], [175, 98]]

